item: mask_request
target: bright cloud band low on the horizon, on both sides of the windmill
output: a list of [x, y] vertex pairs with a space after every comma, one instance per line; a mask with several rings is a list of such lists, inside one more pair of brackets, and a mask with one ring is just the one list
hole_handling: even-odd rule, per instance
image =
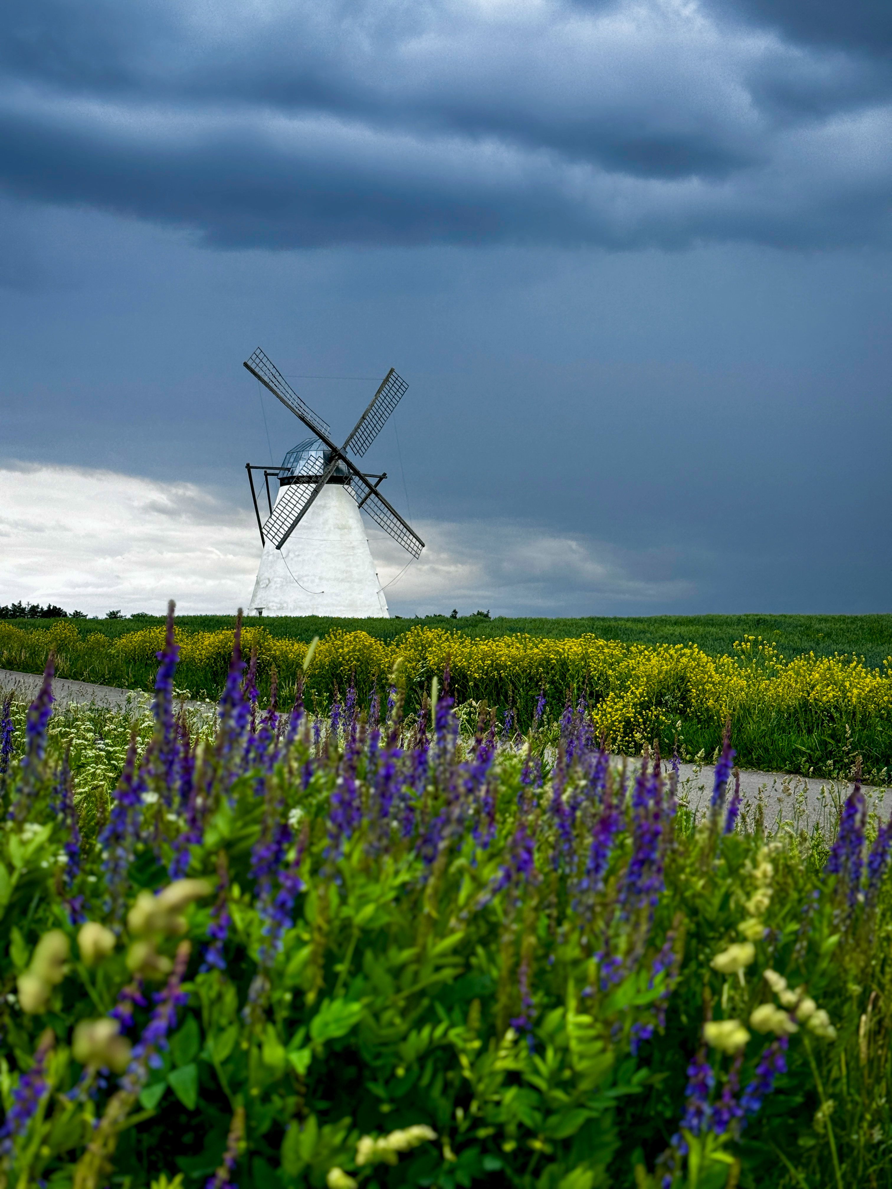
[[[516, 521], [420, 522], [417, 562], [370, 530], [391, 612], [646, 614], [691, 594], [673, 559]], [[34, 465], [0, 468], [0, 603], [234, 614], [251, 593], [253, 517], [189, 483]]]

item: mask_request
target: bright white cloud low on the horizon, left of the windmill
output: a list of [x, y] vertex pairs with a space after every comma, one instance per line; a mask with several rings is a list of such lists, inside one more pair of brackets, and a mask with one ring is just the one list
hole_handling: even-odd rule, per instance
[[258, 543], [249, 516], [190, 483], [63, 466], [0, 470], [0, 603], [233, 612]]

